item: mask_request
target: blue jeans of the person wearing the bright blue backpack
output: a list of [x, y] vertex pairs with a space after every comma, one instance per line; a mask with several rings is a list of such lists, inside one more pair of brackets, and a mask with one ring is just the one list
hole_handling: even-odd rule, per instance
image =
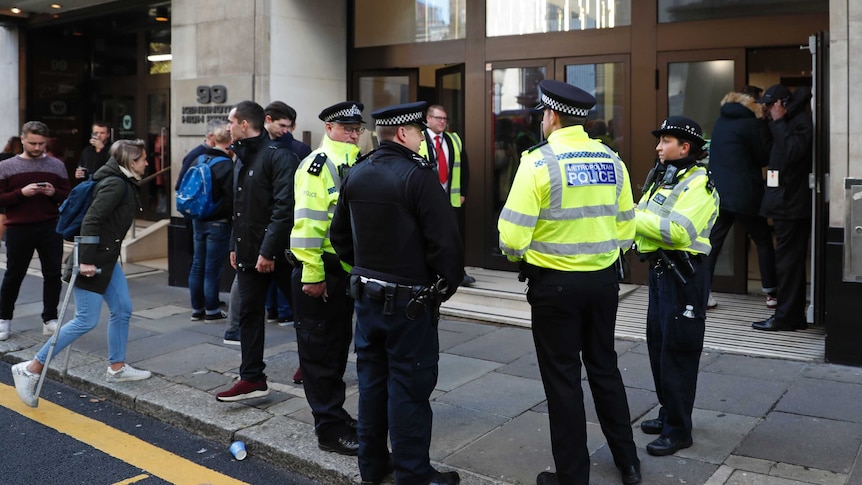
[[219, 282], [227, 261], [230, 223], [226, 221], [192, 221], [194, 255], [189, 270], [189, 293], [192, 311], [219, 311]]

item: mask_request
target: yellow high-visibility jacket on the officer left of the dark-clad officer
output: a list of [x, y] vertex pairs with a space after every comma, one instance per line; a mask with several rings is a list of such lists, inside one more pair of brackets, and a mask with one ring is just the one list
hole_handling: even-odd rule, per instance
[[[323, 253], [335, 254], [329, 241], [329, 225], [341, 190], [342, 166], [351, 167], [359, 147], [323, 137], [320, 148], [300, 163], [294, 178], [295, 205], [290, 251], [302, 262], [302, 282], [320, 283], [326, 279]], [[341, 263], [345, 270], [350, 266]]]

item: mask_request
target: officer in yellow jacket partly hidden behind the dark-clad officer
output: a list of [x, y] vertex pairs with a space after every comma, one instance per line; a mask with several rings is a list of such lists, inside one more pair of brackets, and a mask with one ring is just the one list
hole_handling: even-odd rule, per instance
[[320, 148], [296, 171], [290, 250], [301, 266], [293, 271], [296, 342], [303, 385], [314, 416], [318, 446], [356, 455], [356, 421], [344, 410], [344, 370], [350, 348], [353, 299], [347, 270], [329, 241], [331, 214], [342, 176], [359, 154], [362, 103], [345, 101], [324, 109], [326, 134]]

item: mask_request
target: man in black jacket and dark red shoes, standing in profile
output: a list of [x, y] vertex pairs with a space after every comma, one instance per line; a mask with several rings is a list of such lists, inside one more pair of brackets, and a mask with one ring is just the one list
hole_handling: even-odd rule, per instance
[[263, 127], [263, 107], [242, 101], [228, 115], [237, 156], [233, 204], [231, 265], [240, 293], [240, 380], [216, 395], [219, 401], [240, 401], [269, 394], [263, 369], [264, 300], [274, 279], [290, 293], [292, 267], [284, 258], [293, 228], [293, 175], [299, 161], [279, 148]]

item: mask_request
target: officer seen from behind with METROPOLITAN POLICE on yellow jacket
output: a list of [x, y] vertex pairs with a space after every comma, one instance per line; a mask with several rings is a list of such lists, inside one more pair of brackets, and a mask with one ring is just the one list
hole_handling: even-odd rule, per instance
[[589, 138], [584, 122], [596, 99], [545, 80], [539, 109], [547, 141], [521, 155], [500, 214], [500, 246], [529, 279], [533, 340], [548, 398], [557, 472], [538, 485], [590, 479], [581, 358], [596, 413], [622, 482], [641, 481], [631, 417], [614, 351], [621, 250], [635, 233], [625, 164]]

